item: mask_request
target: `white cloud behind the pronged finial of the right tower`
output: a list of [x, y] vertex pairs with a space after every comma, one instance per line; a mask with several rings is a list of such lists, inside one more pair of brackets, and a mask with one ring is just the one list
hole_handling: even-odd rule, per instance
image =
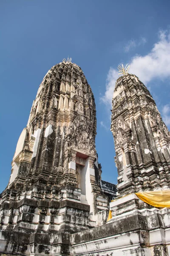
[[[147, 85], [152, 79], [166, 79], [170, 77], [170, 33], [159, 32], [159, 41], [153, 45], [151, 51], [144, 56], [135, 55], [130, 64], [130, 73], [135, 74]], [[110, 68], [106, 80], [105, 95], [102, 102], [111, 105], [117, 70]]]

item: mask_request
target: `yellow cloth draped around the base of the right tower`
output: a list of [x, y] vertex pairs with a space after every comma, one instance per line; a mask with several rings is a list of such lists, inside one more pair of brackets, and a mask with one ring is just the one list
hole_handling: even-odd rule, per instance
[[[170, 208], [170, 189], [147, 191], [135, 193], [142, 201], [154, 207], [167, 207]], [[115, 201], [115, 200], [113, 200]], [[108, 220], [112, 218], [111, 210], [109, 211]]]

